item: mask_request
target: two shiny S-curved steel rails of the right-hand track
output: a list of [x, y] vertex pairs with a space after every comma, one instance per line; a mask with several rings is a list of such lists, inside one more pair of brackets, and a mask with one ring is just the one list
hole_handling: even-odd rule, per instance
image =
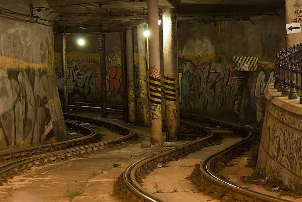
[[[191, 115], [191, 114], [182, 114], [182, 116], [191, 117], [192, 119], [197, 117], [196, 115]], [[244, 131], [245, 134], [248, 134], [245, 135], [246, 137], [243, 140], [233, 145], [230, 145], [226, 149], [210, 156], [203, 163], [200, 164], [199, 169], [200, 169], [201, 177], [203, 177], [203, 179], [207, 181], [207, 183], [204, 184], [205, 187], [208, 187], [208, 189], [212, 189], [211, 190], [212, 192], [218, 193], [219, 198], [221, 198], [222, 196], [228, 196], [232, 200], [236, 200], [236, 201], [244, 200], [244, 201], [255, 201], [255, 202], [290, 202], [288, 200], [283, 200], [273, 196], [247, 190], [240, 186], [236, 186], [234, 184], [231, 184], [229, 182], [226, 182], [218, 178], [211, 169], [215, 161], [217, 161], [220, 156], [236, 153], [237, 150], [240, 149], [240, 147], [243, 147], [245, 149], [249, 147], [250, 140], [254, 135], [255, 129], [253, 129], [252, 127], [243, 127], [238, 124], [227, 123], [226, 121], [211, 120], [202, 117], [198, 117], [198, 118], [201, 120], [208, 120], [209, 122], [212, 123], [218, 123], [219, 125], [227, 126], [229, 128], [237, 129], [238, 131]], [[211, 137], [212, 136], [208, 136], [198, 141], [204, 141], [205, 139]], [[181, 148], [188, 147], [188, 145], [192, 146], [196, 143], [197, 143], [196, 140], [191, 141], [185, 145], [182, 145]], [[139, 201], [143, 201], [143, 202], [163, 202], [162, 200], [156, 198], [151, 193], [148, 193], [147, 191], [144, 190], [144, 188], [137, 182], [137, 178], [138, 178], [137, 173], [140, 172], [140, 169], [143, 168], [144, 166], [151, 164], [152, 161], [156, 161], [156, 160], [160, 161], [159, 158], [163, 158], [164, 156], [171, 155], [172, 153], [176, 152], [179, 149], [180, 148], [171, 149], [161, 154], [155, 155], [153, 157], [141, 159], [135, 162], [134, 164], [130, 165], [125, 170], [122, 177], [122, 183], [124, 183], [124, 188], [127, 190], [128, 196], [129, 195], [130, 197], [134, 196]]]

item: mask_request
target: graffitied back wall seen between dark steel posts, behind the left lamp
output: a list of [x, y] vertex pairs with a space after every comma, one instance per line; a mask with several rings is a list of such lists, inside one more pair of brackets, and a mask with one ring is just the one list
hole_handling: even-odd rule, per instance
[[[67, 85], [69, 101], [100, 102], [102, 81], [98, 35], [67, 36]], [[63, 69], [61, 64], [62, 36], [55, 36], [56, 76], [61, 98], [63, 98]], [[76, 39], [85, 38], [87, 44], [80, 47]], [[106, 86], [108, 104], [122, 104], [122, 69], [119, 33], [106, 34]], [[137, 49], [137, 48], [136, 48]], [[137, 54], [135, 54], [136, 78], [138, 76]], [[136, 92], [138, 82], [136, 82]]]

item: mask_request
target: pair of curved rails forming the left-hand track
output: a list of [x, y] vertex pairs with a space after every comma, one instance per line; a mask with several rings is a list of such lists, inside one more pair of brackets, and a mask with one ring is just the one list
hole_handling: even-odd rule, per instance
[[[33, 166], [44, 165], [55, 161], [67, 160], [71, 157], [80, 156], [82, 154], [89, 154], [92, 152], [101, 151], [106, 149], [107, 147], [114, 146], [123, 141], [132, 140], [136, 138], [136, 134], [134, 133], [134, 131], [119, 124], [111, 123], [105, 120], [81, 117], [73, 114], [64, 114], [64, 116], [67, 119], [89, 122], [100, 127], [105, 127], [123, 136], [107, 141], [91, 143], [91, 139], [93, 139], [93, 137], [97, 135], [95, 131], [84, 126], [77, 125], [75, 123], [69, 123], [72, 124], [74, 127], [80, 128], [81, 130], [86, 130], [86, 133], [89, 132], [89, 135], [78, 139], [57, 142], [53, 144], [37, 145], [22, 148], [19, 150], [15, 149], [3, 152], [1, 154], [2, 161], [6, 161], [9, 163], [4, 163], [4, 165], [0, 166], [0, 185], [2, 185], [3, 182], [5, 182], [7, 179], [12, 178], [14, 175], [18, 175], [24, 170], [30, 169]], [[86, 141], [88, 141], [89, 144], [79, 146], [80, 144], [85, 144]]]

